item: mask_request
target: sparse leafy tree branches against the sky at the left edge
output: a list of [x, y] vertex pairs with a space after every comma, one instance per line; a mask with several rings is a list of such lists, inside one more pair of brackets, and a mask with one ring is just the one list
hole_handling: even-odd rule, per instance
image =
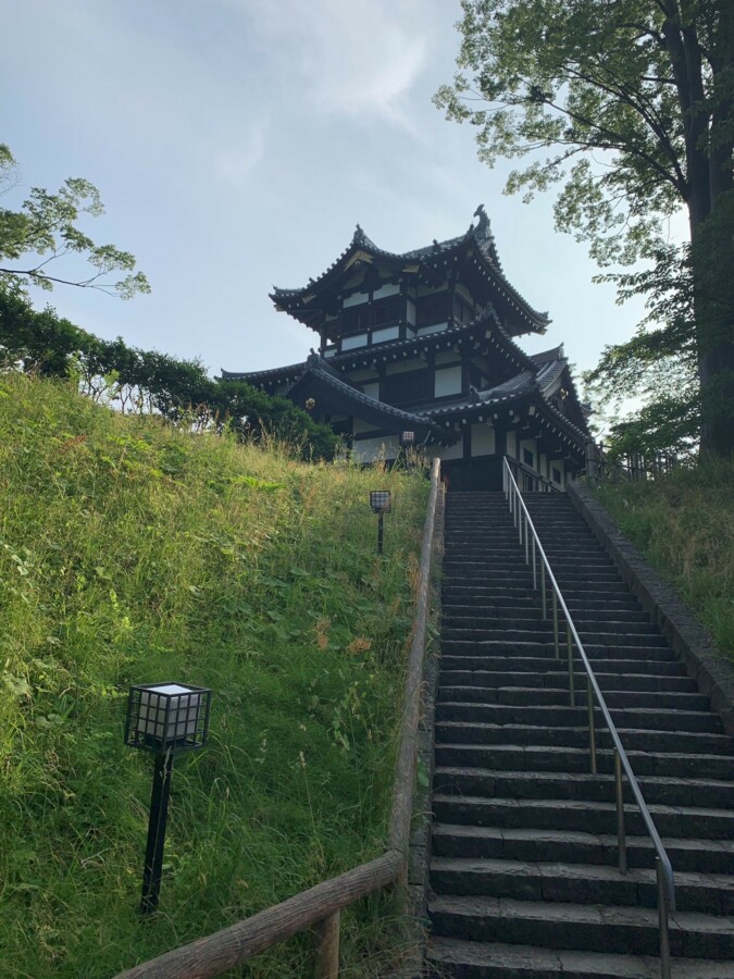
[[[7, 193], [16, 182], [16, 163], [0, 144], [0, 187]], [[57, 283], [100, 289], [129, 299], [149, 293], [142, 272], [135, 272], [135, 256], [114, 245], [96, 245], [77, 227], [82, 215], [104, 212], [97, 188], [89, 181], [70, 177], [55, 193], [34, 187], [20, 210], [0, 208], [0, 286], [23, 292], [33, 283], [51, 289]], [[82, 256], [91, 270], [80, 277], [52, 275], [49, 265], [57, 259]], [[113, 282], [112, 273], [127, 273]]]

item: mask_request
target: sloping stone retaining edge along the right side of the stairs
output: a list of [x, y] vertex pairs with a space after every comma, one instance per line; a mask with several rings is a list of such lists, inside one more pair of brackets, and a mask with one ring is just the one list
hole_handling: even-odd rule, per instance
[[675, 590], [645, 560], [596, 500], [587, 486], [567, 485], [569, 497], [632, 588], [644, 610], [685, 664], [702, 694], [711, 698], [725, 732], [734, 736], [734, 662], [714, 646], [710, 634], [688, 610]]

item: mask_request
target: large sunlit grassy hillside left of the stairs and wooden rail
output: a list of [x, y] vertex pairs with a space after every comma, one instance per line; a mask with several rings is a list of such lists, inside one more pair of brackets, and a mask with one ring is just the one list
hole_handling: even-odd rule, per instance
[[[427, 488], [0, 376], [0, 974], [109, 977], [382, 852]], [[142, 924], [151, 758], [123, 718], [162, 680], [212, 687], [212, 721]], [[302, 976], [304, 947], [241, 975]]]

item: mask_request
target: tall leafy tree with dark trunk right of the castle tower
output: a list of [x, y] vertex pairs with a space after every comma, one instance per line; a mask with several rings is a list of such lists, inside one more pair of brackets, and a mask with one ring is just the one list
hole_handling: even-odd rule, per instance
[[[693, 414], [681, 418], [693, 430], [700, 424], [702, 449], [730, 454], [734, 3], [462, 0], [462, 9], [458, 64], [473, 77], [457, 74], [436, 102], [449, 117], [477, 127], [480, 156], [489, 165], [498, 157], [528, 159], [510, 175], [508, 190], [530, 198], [560, 182], [557, 226], [588, 241], [601, 265], [657, 262], [667, 249], [664, 220], [686, 208], [689, 249], [675, 261], [689, 263], [694, 315], [687, 334], [669, 331], [662, 346], [677, 336], [682, 362], [695, 360], [699, 392]], [[655, 265], [658, 286], [665, 268]], [[622, 294], [654, 285], [615, 277]], [[686, 301], [680, 284], [664, 293], [654, 292], [652, 309]], [[671, 300], [673, 293], [679, 298]], [[619, 365], [625, 352], [634, 355], [633, 365], [651, 362], [651, 352], [660, 352], [654, 335], [639, 334], [632, 348], [610, 348], [608, 362]], [[677, 363], [674, 349], [671, 356], [668, 362]]]

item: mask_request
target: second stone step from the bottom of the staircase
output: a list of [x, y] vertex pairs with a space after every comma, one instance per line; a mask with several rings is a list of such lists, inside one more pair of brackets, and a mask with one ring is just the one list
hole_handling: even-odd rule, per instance
[[[637, 955], [659, 951], [658, 913], [647, 907], [512, 901], [498, 897], [436, 897], [428, 905], [434, 934], [470, 941], [542, 945]], [[694, 912], [670, 917], [670, 947], [677, 958], [734, 958], [734, 921]]]

